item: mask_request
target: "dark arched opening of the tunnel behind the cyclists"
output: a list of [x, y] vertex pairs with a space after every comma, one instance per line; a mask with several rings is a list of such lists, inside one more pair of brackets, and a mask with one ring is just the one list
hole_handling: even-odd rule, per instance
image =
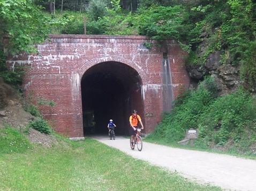
[[107, 134], [110, 119], [117, 125], [116, 134], [127, 135], [132, 109], [143, 112], [140, 76], [120, 62], [101, 62], [89, 68], [81, 79], [81, 98], [85, 136]]

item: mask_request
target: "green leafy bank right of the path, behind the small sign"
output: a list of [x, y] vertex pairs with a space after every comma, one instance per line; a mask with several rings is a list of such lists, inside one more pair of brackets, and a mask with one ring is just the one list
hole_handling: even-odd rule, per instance
[[199, 130], [194, 142], [197, 148], [255, 155], [256, 97], [243, 87], [216, 97], [213, 79], [206, 78], [197, 90], [185, 91], [174, 103], [148, 139], [176, 144], [185, 138], [187, 129], [194, 128]]

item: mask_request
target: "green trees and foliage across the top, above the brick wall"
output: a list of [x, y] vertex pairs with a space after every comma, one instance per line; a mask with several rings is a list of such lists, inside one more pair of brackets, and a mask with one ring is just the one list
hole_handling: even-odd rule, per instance
[[[256, 2], [254, 0], [0, 0], [0, 35], [10, 50], [33, 52], [48, 34], [147, 35], [161, 43], [176, 39], [189, 52], [188, 65], [203, 64], [209, 53], [241, 66], [241, 77], [256, 82]], [[200, 53], [202, 43], [204, 52]], [[150, 47], [150, 46], [148, 46]]]

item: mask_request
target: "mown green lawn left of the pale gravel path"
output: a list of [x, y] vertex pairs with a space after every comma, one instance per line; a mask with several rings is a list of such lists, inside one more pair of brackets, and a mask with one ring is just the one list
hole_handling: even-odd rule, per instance
[[221, 190], [132, 161], [131, 156], [89, 138], [67, 141], [65, 147], [35, 145], [25, 152], [0, 154], [0, 190]]

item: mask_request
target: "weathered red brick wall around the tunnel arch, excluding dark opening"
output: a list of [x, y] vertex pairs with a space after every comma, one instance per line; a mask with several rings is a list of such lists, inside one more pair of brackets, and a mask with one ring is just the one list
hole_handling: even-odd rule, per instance
[[[166, 103], [174, 100], [181, 87], [188, 87], [189, 76], [183, 64], [184, 52], [176, 41], [169, 40], [165, 48], [146, 49], [145, 36], [108, 35], [50, 35], [50, 41], [37, 45], [39, 55], [20, 54], [10, 57], [9, 66], [28, 66], [24, 77], [26, 93], [56, 102], [55, 107], [41, 107], [41, 112], [54, 129], [67, 137], [83, 137], [81, 78], [98, 63], [115, 61], [130, 66], [141, 78], [138, 94], [133, 101], [141, 102], [140, 115], [144, 118], [145, 133], [153, 131]], [[163, 52], [169, 61], [169, 77], [163, 74]], [[124, 75], [126, 71], [123, 71]], [[163, 77], [170, 84], [163, 84]], [[167, 77], [166, 77], [167, 75]], [[170, 78], [170, 79], [169, 79]], [[164, 87], [170, 86], [164, 98]], [[131, 90], [134, 92], [137, 90]], [[164, 100], [163, 100], [164, 99]], [[170, 105], [170, 106], [169, 106]], [[170, 109], [171, 104], [167, 106]], [[149, 115], [149, 116], [145, 116]]]

